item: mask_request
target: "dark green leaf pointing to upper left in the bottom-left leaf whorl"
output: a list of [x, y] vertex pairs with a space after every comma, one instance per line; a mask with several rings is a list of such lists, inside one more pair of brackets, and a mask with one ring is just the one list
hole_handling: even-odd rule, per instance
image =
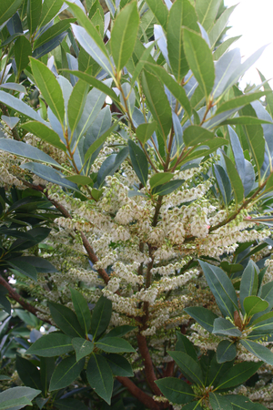
[[76, 318], [76, 314], [71, 309], [62, 304], [48, 302], [50, 313], [56, 325], [71, 337], [84, 337], [80, 324]]

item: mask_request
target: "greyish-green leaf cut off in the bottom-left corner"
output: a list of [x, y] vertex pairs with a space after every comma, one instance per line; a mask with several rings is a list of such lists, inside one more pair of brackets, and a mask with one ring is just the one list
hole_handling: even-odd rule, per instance
[[[29, 405], [29, 402], [31, 402], [40, 393], [41, 390], [35, 390], [30, 387], [12, 387], [0, 393], [0, 404], [4, 405], [5, 402], [9, 402], [9, 404], [7, 404], [8, 407], [3, 407], [3, 410], [5, 408], [8, 408], [9, 410], [19, 410], [20, 408], [25, 407], [26, 400], [28, 400], [27, 405]], [[11, 400], [18, 400], [18, 404], [11, 405]]]

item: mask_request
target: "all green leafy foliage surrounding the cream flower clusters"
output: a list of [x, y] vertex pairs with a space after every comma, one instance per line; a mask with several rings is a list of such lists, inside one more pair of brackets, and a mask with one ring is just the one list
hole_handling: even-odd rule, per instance
[[[0, 149], [27, 159], [21, 165], [18, 161], [18, 166], [25, 170], [28, 185], [35, 188], [35, 174], [83, 201], [99, 200], [106, 177], [127, 160], [139, 179], [129, 194], [146, 196], [158, 210], [162, 198], [184, 182], [173, 179], [176, 171], [197, 167], [217, 152], [219, 160], [206, 178], [214, 176], [212, 194], [227, 211], [227, 220], [220, 226], [254, 201], [258, 218], [252, 220], [270, 226], [270, 216], [263, 213], [272, 206], [272, 91], [262, 75], [263, 91], [257, 87], [243, 94], [237, 86], [263, 49], [243, 64], [237, 49], [227, 52], [237, 38], [222, 42], [215, 50], [234, 7], [220, 13], [220, 0], [176, 0], [173, 5], [169, 0], [106, 3], [109, 12], [105, 15], [98, 0], [86, 1], [86, 9], [79, 1], [1, 2], [0, 108], [2, 121], [15, 139], [3, 135]], [[74, 17], [61, 20], [67, 7]], [[150, 42], [152, 36], [155, 41]], [[31, 107], [25, 87], [19, 84], [26, 77], [39, 90], [38, 109]], [[115, 105], [111, 106], [114, 113], [106, 96]], [[263, 96], [267, 109], [258, 101]], [[24, 132], [16, 134], [16, 129]], [[25, 132], [45, 143], [47, 153], [43, 144], [37, 148], [25, 144], [24, 138], [19, 140]], [[116, 137], [116, 151], [93, 172], [109, 136]], [[59, 159], [53, 154], [56, 149]], [[146, 193], [140, 191], [144, 187]], [[7, 271], [15, 275], [16, 286], [22, 275], [36, 280], [37, 272], [56, 272], [48, 261], [29, 253], [45, 241], [50, 231], [46, 226], [57, 213], [42, 193], [20, 192], [0, 190], [0, 269], [5, 278]], [[210, 231], [217, 228], [219, 225]], [[177, 333], [176, 351], [168, 354], [180, 370], [176, 377], [156, 381], [169, 402], [185, 405], [187, 410], [206, 408], [208, 403], [213, 410], [265, 408], [226, 393], [256, 374], [263, 362], [273, 365], [272, 353], [262, 344], [272, 341], [273, 282], [262, 284], [264, 261], [258, 265], [249, 261], [268, 243], [241, 245], [232, 263], [223, 261], [227, 255], [220, 262], [210, 260], [214, 264], [201, 258], [200, 266], [222, 317], [202, 306], [188, 307], [185, 313], [222, 340], [216, 353], [200, 355], [187, 336]], [[31, 338], [31, 346], [24, 339], [13, 339], [15, 330], [7, 330], [11, 316], [3, 319], [3, 355], [13, 359], [11, 345], [17, 342], [27, 358], [17, 355], [15, 361], [26, 387], [2, 392], [0, 408], [19, 409], [35, 399], [40, 409], [53, 405], [61, 410], [85, 409], [84, 403], [67, 396], [76, 395], [76, 389], [65, 394], [76, 379], [85, 386], [81, 392], [89, 394], [91, 387], [110, 405], [114, 377], [134, 375], [121, 355], [135, 353], [122, 338], [134, 327], [117, 326], [106, 333], [111, 302], [101, 297], [91, 314], [84, 296], [72, 288], [70, 292], [75, 312], [48, 302], [59, 330], [42, 337], [38, 333], [39, 338]], [[12, 297], [6, 287], [0, 287], [1, 306], [9, 314]], [[27, 324], [39, 328], [42, 323], [34, 321]], [[236, 363], [238, 346], [262, 362]], [[187, 381], [181, 380], [182, 374]], [[115, 405], [123, 406], [117, 402], [110, 408]], [[149, 408], [163, 407], [153, 401]]]

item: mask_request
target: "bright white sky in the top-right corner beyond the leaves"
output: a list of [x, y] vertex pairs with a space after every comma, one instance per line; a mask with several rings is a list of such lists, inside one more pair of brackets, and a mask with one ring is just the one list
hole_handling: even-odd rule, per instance
[[[225, 0], [225, 5], [237, 5], [230, 16], [227, 36], [239, 36], [232, 47], [241, 50], [241, 56], [251, 56], [258, 48], [268, 44], [263, 55], [254, 67], [244, 76], [242, 87], [246, 83], [259, 84], [256, 68], [267, 78], [273, 78], [273, 0]], [[245, 58], [244, 58], [245, 59]], [[273, 80], [270, 81], [273, 87]]]

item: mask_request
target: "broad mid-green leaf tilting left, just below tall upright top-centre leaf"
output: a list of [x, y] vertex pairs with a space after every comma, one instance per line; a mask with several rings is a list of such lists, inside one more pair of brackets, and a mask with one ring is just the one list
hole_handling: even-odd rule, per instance
[[168, 132], [172, 127], [172, 112], [167, 95], [157, 77], [147, 71], [142, 73], [142, 87], [147, 97], [148, 107], [157, 121], [158, 131], [166, 143]]

